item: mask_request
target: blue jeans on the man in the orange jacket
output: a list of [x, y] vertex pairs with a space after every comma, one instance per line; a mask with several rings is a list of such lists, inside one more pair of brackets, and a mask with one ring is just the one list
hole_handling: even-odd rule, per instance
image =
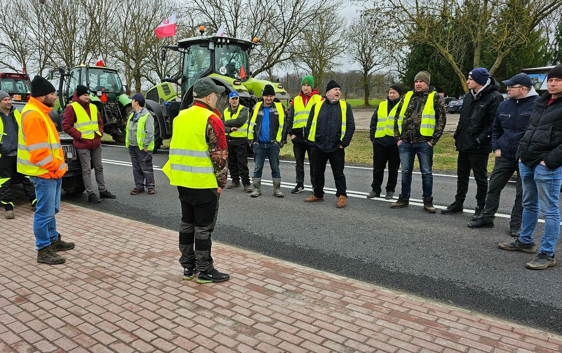
[[37, 209], [33, 216], [33, 234], [37, 251], [58, 240], [55, 215], [61, 206], [62, 179], [29, 177], [35, 186]]

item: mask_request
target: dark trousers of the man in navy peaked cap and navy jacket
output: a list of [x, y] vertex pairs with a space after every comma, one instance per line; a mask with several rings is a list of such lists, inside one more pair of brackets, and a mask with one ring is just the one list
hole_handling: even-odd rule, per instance
[[486, 208], [482, 214], [482, 219], [493, 221], [498, 207], [500, 206], [500, 194], [509, 182], [511, 175], [517, 172], [517, 182], [515, 184], [515, 203], [511, 210], [511, 220], [509, 225], [521, 227], [523, 217], [523, 185], [519, 176], [519, 163], [514, 158], [496, 157], [496, 163], [490, 175], [490, 185], [486, 195]]

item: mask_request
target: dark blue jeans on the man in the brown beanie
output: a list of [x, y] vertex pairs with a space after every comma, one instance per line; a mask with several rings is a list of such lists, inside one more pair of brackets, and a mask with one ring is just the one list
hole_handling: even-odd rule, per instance
[[422, 170], [423, 197], [430, 197], [433, 193], [433, 147], [429, 146], [428, 142], [402, 141], [398, 146], [398, 152], [400, 152], [400, 162], [402, 163], [402, 191], [400, 193], [402, 199], [410, 200], [415, 156], [418, 156]]

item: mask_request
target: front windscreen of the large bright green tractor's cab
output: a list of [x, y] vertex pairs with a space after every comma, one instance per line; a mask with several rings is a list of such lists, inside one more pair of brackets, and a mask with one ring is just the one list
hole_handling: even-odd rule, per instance
[[219, 75], [246, 81], [250, 78], [250, 67], [248, 66], [248, 52], [241, 47], [216, 46], [215, 48], [215, 72]]

